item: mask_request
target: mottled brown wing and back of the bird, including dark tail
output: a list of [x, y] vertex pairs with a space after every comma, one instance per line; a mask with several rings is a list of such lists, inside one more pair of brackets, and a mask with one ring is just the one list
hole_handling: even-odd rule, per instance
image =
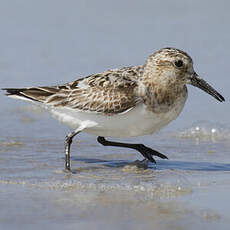
[[8, 95], [54, 107], [112, 115], [124, 112], [139, 102], [135, 96], [135, 87], [141, 73], [142, 66], [125, 67], [90, 75], [62, 86], [6, 90]]

